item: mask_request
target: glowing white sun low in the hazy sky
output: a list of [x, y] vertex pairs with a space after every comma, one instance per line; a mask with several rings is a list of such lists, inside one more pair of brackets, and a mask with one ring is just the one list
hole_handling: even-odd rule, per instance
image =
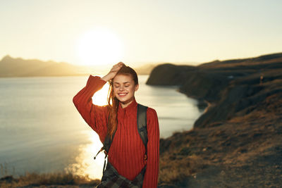
[[82, 65], [109, 65], [122, 61], [123, 45], [114, 32], [99, 28], [80, 36], [77, 52]]

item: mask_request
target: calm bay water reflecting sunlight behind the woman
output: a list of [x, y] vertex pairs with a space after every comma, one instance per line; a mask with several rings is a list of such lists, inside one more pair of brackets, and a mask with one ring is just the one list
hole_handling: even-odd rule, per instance
[[[148, 76], [139, 76], [135, 99], [157, 111], [160, 137], [190, 130], [202, 114], [197, 101], [176, 92], [177, 87], [146, 85]], [[87, 79], [88, 76], [0, 78], [0, 177], [6, 174], [5, 168], [16, 177], [25, 172], [63, 170], [102, 177], [104, 153], [93, 160], [102, 143], [73, 105], [73, 96]], [[94, 104], [102, 101], [99, 93], [106, 101], [103, 90], [106, 91], [106, 84], [93, 96]]]

